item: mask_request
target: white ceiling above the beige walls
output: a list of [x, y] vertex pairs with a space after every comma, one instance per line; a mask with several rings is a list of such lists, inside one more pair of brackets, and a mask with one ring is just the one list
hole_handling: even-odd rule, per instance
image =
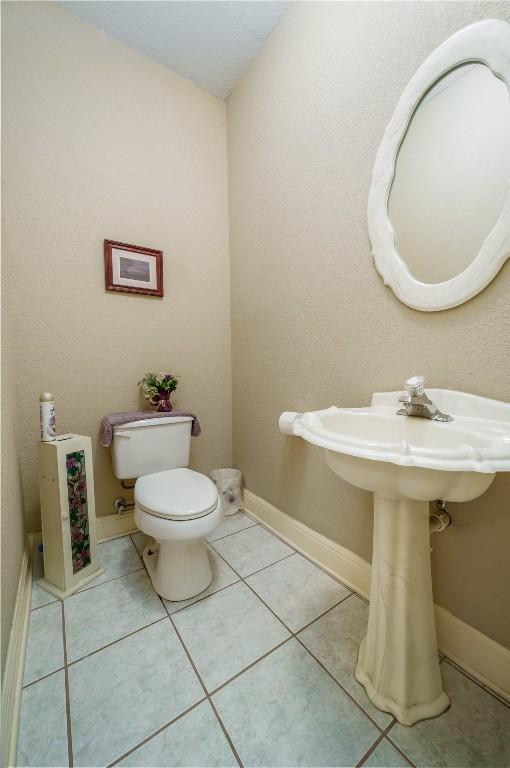
[[288, 2], [71, 0], [60, 5], [224, 99]]

